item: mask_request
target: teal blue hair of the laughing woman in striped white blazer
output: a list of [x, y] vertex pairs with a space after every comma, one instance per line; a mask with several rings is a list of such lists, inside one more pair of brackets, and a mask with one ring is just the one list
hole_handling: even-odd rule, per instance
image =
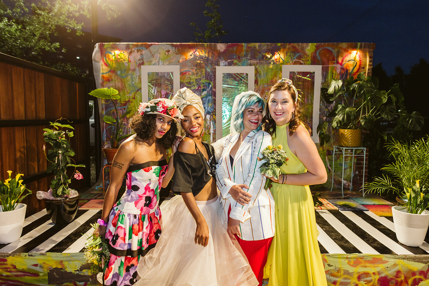
[[[237, 109], [233, 111], [233, 114], [231, 115], [231, 123], [233, 124], [234, 129], [236, 129], [236, 132], [242, 132], [244, 130], [243, 111], [255, 104], [259, 104], [259, 106], [264, 109], [265, 102], [259, 93], [250, 90], [240, 93], [237, 97], [241, 98], [237, 105]], [[258, 126], [256, 131], [259, 131], [260, 129], [261, 124]]]

